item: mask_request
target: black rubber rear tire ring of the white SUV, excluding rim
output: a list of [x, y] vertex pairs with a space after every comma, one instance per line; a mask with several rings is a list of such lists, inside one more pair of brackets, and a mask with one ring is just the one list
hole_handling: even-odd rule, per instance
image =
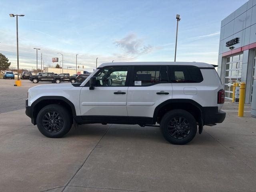
[[[176, 139], [173, 138], [172, 136], [170, 136], [169, 132], [168, 132], [168, 123], [170, 122], [170, 120], [174, 117], [177, 116], [181, 116], [186, 118], [186, 120], [188, 120], [189, 124], [190, 124], [190, 133], [188, 134], [188, 136], [186, 136], [183, 139]], [[169, 112], [167, 112], [161, 122], [160, 122], [160, 130], [164, 136], [164, 138], [172, 143], [172, 144], [178, 144], [178, 145], [183, 145], [186, 144], [188, 142], [190, 142], [194, 136], [196, 135], [196, 131], [197, 131], [197, 124], [196, 124], [196, 120], [195, 118], [192, 116], [192, 114], [190, 114], [189, 112], [187, 112], [186, 110], [171, 110]]]

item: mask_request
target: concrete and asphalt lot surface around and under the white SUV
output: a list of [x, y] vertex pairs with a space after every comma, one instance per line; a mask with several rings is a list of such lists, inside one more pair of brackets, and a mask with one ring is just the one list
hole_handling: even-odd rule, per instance
[[46, 138], [25, 115], [28, 88], [0, 79], [0, 191], [255, 192], [256, 118], [226, 101], [226, 119], [187, 145], [159, 128], [88, 124]]

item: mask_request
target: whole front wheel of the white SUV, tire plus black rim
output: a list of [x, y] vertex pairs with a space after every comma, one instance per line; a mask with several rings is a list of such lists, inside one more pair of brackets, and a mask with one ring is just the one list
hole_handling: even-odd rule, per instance
[[[49, 126], [49, 123], [53, 126]], [[50, 104], [40, 110], [36, 118], [36, 124], [38, 130], [44, 136], [60, 138], [66, 135], [72, 126], [71, 114], [59, 104]]]

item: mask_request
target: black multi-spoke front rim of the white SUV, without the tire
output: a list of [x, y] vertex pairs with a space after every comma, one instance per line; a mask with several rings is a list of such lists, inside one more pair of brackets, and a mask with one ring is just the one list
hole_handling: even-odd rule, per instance
[[55, 111], [44, 114], [42, 119], [43, 127], [51, 133], [56, 133], [63, 128], [63, 117]]

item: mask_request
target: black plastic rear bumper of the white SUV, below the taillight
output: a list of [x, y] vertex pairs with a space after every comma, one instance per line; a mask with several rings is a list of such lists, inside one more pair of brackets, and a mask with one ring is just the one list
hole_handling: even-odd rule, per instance
[[204, 107], [204, 125], [222, 123], [226, 112], [218, 110], [218, 107]]

